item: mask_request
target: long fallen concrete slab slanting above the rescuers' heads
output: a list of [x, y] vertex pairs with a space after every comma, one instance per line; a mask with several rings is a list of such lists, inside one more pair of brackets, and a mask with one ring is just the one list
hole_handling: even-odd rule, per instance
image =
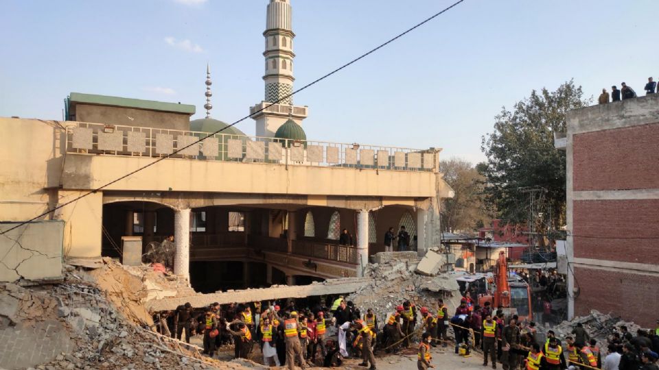
[[177, 296], [165, 299], [152, 299], [146, 302], [146, 308], [150, 312], [175, 310], [176, 307], [190, 302], [193, 307], [201, 308], [209, 306], [213, 302], [219, 304], [243, 303], [253, 301], [267, 301], [280, 298], [304, 298], [316, 295], [336, 295], [352, 293], [360, 286], [370, 282], [370, 279], [362, 277], [346, 277], [343, 279], [329, 279], [325, 282], [316, 282], [310, 285], [293, 286], [271, 286], [270, 288], [244, 289], [241, 291], [227, 291], [211, 294], [196, 294]]

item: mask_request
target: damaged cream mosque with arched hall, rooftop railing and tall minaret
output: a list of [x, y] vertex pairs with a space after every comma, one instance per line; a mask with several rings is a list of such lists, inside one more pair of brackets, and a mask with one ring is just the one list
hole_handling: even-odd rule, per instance
[[188, 104], [82, 93], [65, 121], [0, 117], [0, 225], [65, 205], [12, 230], [20, 245], [0, 238], [0, 281], [54, 278], [61, 261], [139, 264], [170, 236], [174, 272], [203, 293], [360, 276], [389, 227], [405, 226], [419, 253], [439, 245], [452, 197], [441, 149], [307, 138], [309, 108], [290, 96], [291, 19], [289, 0], [269, 0], [255, 136], [211, 118], [209, 68], [203, 119]]

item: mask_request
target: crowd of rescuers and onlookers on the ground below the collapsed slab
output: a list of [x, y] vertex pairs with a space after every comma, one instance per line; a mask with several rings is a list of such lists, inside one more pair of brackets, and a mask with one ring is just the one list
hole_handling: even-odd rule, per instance
[[[494, 310], [489, 302], [480, 307], [465, 296], [452, 315], [442, 299], [437, 307], [431, 312], [404, 301], [382, 325], [371, 308], [362, 314], [343, 296], [324, 302], [216, 303], [206, 310], [194, 310], [188, 303], [154, 319], [163, 335], [181, 340], [185, 332], [188, 343], [194, 335], [203, 336], [207, 356], [215, 356], [222, 345], [233, 345], [235, 358], [248, 358], [257, 344], [265, 365], [289, 369], [340, 367], [345, 358], [361, 358], [360, 366], [375, 370], [376, 349], [400, 354], [416, 347], [418, 368], [426, 370], [435, 367], [431, 347], [451, 345], [461, 355], [481, 349], [483, 366], [493, 369], [500, 362], [505, 370], [659, 370], [659, 320], [653, 332], [638, 330], [633, 336], [624, 326], [613, 332], [603, 356], [580, 323], [562, 340], [549, 330], [541, 343], [535, 323], [522, 322], [515, 314], [505, 317], [502, 308]], [[449, 328], [453, 338], [447, 336]]]

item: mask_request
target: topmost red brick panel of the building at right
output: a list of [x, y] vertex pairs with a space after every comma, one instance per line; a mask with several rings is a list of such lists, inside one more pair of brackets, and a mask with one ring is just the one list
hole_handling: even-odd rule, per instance
[[574, 190], [659, 188], [659, 124], [573, 136]]

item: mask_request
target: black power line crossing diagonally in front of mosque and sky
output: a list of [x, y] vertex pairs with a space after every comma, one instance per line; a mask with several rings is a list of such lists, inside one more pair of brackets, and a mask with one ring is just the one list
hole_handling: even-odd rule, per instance
[[460, 3], [462, 3], [463, 1], [465, 1], [465, 0], [459, 0], [459, 1], [456, 1], [455, 3], [453, 3], [453, 4], [450, 5], [450, 6], [448, 6], [447, 8], [444, 8], [444, 9], [441, 10], [440, 12], [437, 12], [437, 13], [433, 14], [432, 16], [430, 16], [430, 17], [424, 19], [424, 21], [421, 21], [421, 22], [417, 23], [417, 24], [414, 25], [413, 27], [406, 29], [404, 32], [402, 32], [402, 33], [398, 34], [397, 36], [395, 36], [395, 37], [393, 37], [393, 38], [390, 38], [390, 39], [387, 40], [386, 42], [384, 42], [384, 43], [378, 45], [378, 47], [375, 47], [375, 48], [373, 48], [373, 49], [367, 51], [366, 53], [363, 53], [361, 56], [358, 56], [357, 58], [351, 60], [350, 62], [347, 62], [346, 64], [343, 64], [342, 66], [338, 67], [337, 69], [334, 69], [334, 71], [331, 71], [331, 72], [327, 73], [326, 75], [323, 75], [322, 77], [319, 77], [318, 79], [315, 79], [314, 81], [310, 82], [309, 84], [306, 84], [305, 86], [302, 86], [301, 88], [299, 88], [299, 89], [297, 89], [297, 90], [294, 90], [292, 93], [290, 93], [290, 94], [288, 94], [288, 95], [286, 95], [286, 96], [284, 96], [284, 97], [279, 98], [277, 101], [273, 101], [272, 103], [270, 103], [270, 104], [264, 106], [263, 108], [261, 108], [261, 109], [259, 109], [259, 110], [256, 110], [255, 112], [252, 112], [252, 113], [248, 114], [247, 116], [242, 117], [242, 119], [239, 119], [238, 121], [235, 121], [234, 123], [231, 123], [231, 125], [227, 125], [227, 127], [224, 127], [224, 128], [222, 128], [222, 129], [220, 129], [220, 130], [217, 130], [216, 132], [213, 132], [213, 133], [211, 133], [211, 134], [208, 134], [207, 136], [205, 136], [205, 137], [203, 137], [203, 138], [200, 138], [198, 141], [196, 141], [196, 142], [194, 142], [194, 143], [190, 143], [190, 144], [186, 145], [185, 147], [178, 148], [178, 149], [176, 149], [176, 151], [174, 151], [174, 152], [172, 152], [172, 153], [170, 153], [170, 154], [167, 154], [167, 156], [164, 156], [164, 157], [158, 158], [158, 159], [155, 160], [154, 162], [151, 162], [151, 163], [149, 163], [149, 164], [146, 164], [146, 165], [144, 165], [143, 167], [139, 167], [139, 169], [136, 169], [135, 171], [131, 171], [131, 172], [127, 173], [126, 175], [123, 175], [122, 177], [118, 177], [117, 179], [115, 179], [115, 180], [113, 180], [113, 181], [111, 181], [111, 182], [108, 182], [107, 184], [104, 184], [103, 186], [100, 186], [100, 187], [98, 187], [98, 188], [95, 188], [94, 190], [90, 190], [89, 192], [87, 192], [87, 193], [85, 193], [85, 194], [83, 194], [83, 195], [80, 195], [79, 197], [77, 197], [77, 198], [75, 198], [75, 199], [71, 199], [70, 201], [67, 201], [65, 204], [61, 204], [60, 206], [56, 206], [55, 208], [53, 208], [53, 209], [51, 209], [51, 210], [47, 210], [46, 212], [44, 212], [44, 213], [42, 213], [42, 214], [39, 214], [38, 216], [33, 217], [32, 219], [29, 219], [29, 220], [27, 220], [27, 221], [23, 221], [23, 222], [19, 223], [19, 225], [16, 225], [16, 226], [14, 226], [14, 227], [11, 227], [11, 228], [8, 229], [8, 230], [5, 230], [5, 231], [3, 231], [3, 232], [0, 232], [0, 235], [3, 235], [3, 234], [5, 234], [5, 233], [7, 233], [7, 232], [10, 232], [10, 231], [12, 231], [12, 230], [14, 230], [14, 229], [16, 229], [16, 228], [18, 228], [18, 227], [21, 227], [21, 226], [23, 226], [23, 225], [25, 225], [25, 224], [27, 224], [27, 223], [31, 223], [32, 221], [35, 221], [36, 219], [39, 219], [40, 217], [44, 217], [45, 215], [47, 215], [47, 214], [49, 214], [49, 213], [51, 213], [51, 212], [54, 212], [54, 211], [56, 211], [56, 210], [58, 210], [58, 209], [60, 209], [60, 208], [62, 208], [62, 207], [68, 206], [69, 204], [72, 204], [73, 202], [79, 201], [80, 199], [82, 199], [82, 198], [84, 198], [84, 197], [86, 197], [86, 196], [88, 196], [88, 195], [94, 194], [94, 193], [96, 193], [96, 192], [99, 191], [99, 190], [102, 190], [102, 189], [104, 189], [104, 188], [106, 188], [106, 187], [108, 187], [108, 186], [110, 186], [110, 185], [112, 185], [112, 184], [115, 184], [116, 182], [119, 182], [119, 181], [121, 181], [121, 180], [124, 180], [126, 177], [129, 177], [129, 176], [131, 176], [131, 175], [135, 175], [135, 173], [138, 173], [139, 171], [142, 171], [143, 169], [147, 169], [148, 167], [151, 167], [151, 166], [153, 166], [154, 164], [157, 164], [157, 163], [160, 162], [161, 160], [165, 160], [165, 159], [167, 159], [167, 158], [170, 158], [171, 156], [174, 156], [176, 153], [178, 153], [178, 152], [180, 152], [180, 151], [183, 151], [183, 150], [187, 149], [188, 147], [192, 147], [192, 145], [196, 145], [197, 143], [200, 143], [201, 141], [206, 140], [207, 138], [209, 138], [209, 137], [211, 137], [211, 136], [214, 136], [214, 135], [216, 135], [216, 134], [219, 134], [220, 132], [222, 132], [222, 131], [224, 131], [224, 130], [227, 130], [229, 127], [232, 127], [233, 125], [236, 125], [236, 124], [238, 124], [238, 123], [240, 123], [240, 122], [242, 122], [242, 121], [244, 121], [244, 120], [250, 118], [250, 117], [253, 116], [254, 114], [257, 114], [257, 113], [259, 113], [259, 112], [262, 112], [263, 110], [266, 110], [266, 109], [270, 108], [271, 106], [274, 106], [275, 104], [279, 103], [280, 101], [285, 101], [286, 99], [288, 99], [288, 98], [292, 97], [293, 95], [295, 95], [295, 94], [301, 92], [302, 90], [305, 90], [306, 88], [310, 88], [311, 86], [313, 86], [313, 85], [315, 85], [315, 84], [321, 82], [323, 79], [326, 79], [327, 77], [329, 77], [329, 76], [331, 76], [331, 75], [334, 75], [334, 74], [337, 73], [338, 71], [341, 71], [341, 70], [345, 69], [347, 66], [350, 66], [351, 64], [354, 64], [354, 63], [358, 62], [359, 60], [362, 60], [363, 58], [366, 58], [367, 56], [371, 55], [372, 53], [375, 53], [375, 51], [378, 51], [378, 50], [382, 49], [383, 47], [385, 47], [386, 45], [391, 44], [391, 42], [394, 42], [395, 40], [401, 38], [402, 36], [405, 36], [406, 34], [408, 34], [408, 33], [412, 32], [412, 31], [414, 31], [415, 29], [421, 27], [422, 25], [424, 25], [424, 24], [426, 24], [426, 23], [432, 21], [433, 19], [437, 18], [437, 17], [440, 16], [441, 14], [444, 14], [445, 12], [448, 12], [448, 11], [451, 10], [452, 8], [456, 7], [457, 5], [459, 5]]

